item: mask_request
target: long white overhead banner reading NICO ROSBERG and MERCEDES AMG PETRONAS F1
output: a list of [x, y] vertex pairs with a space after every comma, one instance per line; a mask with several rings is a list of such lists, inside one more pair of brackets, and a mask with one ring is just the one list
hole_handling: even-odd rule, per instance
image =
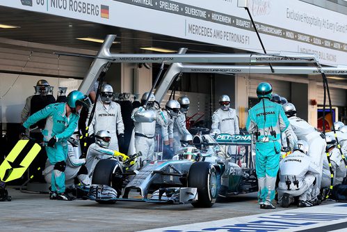
[[[268, 53], [316, 54], [327, 65], [347, 60], [347, 15], [299, 0], [248, 4]], [[237, 0], [0, 0], [0, 5], [263, 52]]]

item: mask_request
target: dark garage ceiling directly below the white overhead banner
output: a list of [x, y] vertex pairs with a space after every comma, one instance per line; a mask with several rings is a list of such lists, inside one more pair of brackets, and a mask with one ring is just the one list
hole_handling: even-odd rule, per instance
[[[146, 23], [145, 20], [139, 23]], [[179, 47], [188, 47], [190, 52], [218, 52], [235, 53], [235, 49], [219, 45], [209, 45], [203, 42], [182, 40], [170, 36], [134, 31], [114, 26], [106, 26], [66, 17], [35, 13], [15, 8], [0, 6], [0, 24], [20, 26], [17, 29], [0, 29], [0, 38], [36, 42], [44, 45], [58, 45], [76, 49], [99, 50], [101, 44], [76, 40], [76, 38], [104, 39], [107, 34], [115, 34], [117, 44], [112, 52], [144, 53], [140, 47], [160, 47], [178, 50]], [[155, 25], [154, 25], [155, 26]], [[170, 26], [170, 25], [168, 25]], [[3, 42], [3, 40], [0, 40]], [[5, 44], [0, 44], [1, 47]], [[242, 51], [245, 52], [245, 51]]]

